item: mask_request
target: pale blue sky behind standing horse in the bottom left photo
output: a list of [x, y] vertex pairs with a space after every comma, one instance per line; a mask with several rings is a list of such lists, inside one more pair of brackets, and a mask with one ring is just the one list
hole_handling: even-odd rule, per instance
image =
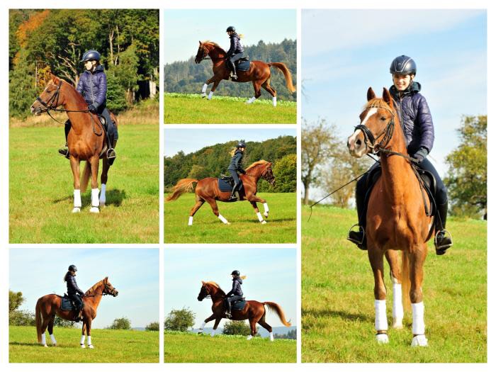
[[9, 288], [26, 298], [21, 310], [34, 312], [43, 295], [63, 295], [64, 275], [74, 264], [82, 291], [106, 276], [119, 291], [115, 298], [102, 298], [93, 327], [108, 327], [117, 317], [128, 317], [131, 327], [159, 321], [158, 249], [16, 248], [9, 249], [9, 256]]

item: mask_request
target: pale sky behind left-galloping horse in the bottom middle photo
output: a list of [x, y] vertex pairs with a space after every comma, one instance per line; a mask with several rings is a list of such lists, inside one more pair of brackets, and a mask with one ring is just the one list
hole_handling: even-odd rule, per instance
[[[282, 306], [286, 318], [296, 325], [296, 251], [291, 248], [193, 249], [166, 248], [164, 252], [164, 315], [171, 310], [189, 308], [199, 327], [212, 314], [212, 301], [196, 298], [201, 281], [215, 281], [230, 291], [233, 270], [247, 275], [243, 293], [247, 300], [272, 301]], [[267, 313], [272, 327], [281, 327], [277, 315]], [[214, 322], [207, 327], [213, 327]], [[220, 322], [222, 327], [223, 321]]]

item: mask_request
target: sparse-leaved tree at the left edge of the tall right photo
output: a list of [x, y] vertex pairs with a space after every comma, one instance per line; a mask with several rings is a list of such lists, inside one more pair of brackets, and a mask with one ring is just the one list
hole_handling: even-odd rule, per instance
[[308, 204], [310, 186], [317, 181], [318, 167], [332, 157], [334, 147], [338, 146], [334, 136], [336, 128], [328, 125], [325, 119], [315, 123], [303, 120], [301, 130], [301, 181], [305, 188], [303, 201]]

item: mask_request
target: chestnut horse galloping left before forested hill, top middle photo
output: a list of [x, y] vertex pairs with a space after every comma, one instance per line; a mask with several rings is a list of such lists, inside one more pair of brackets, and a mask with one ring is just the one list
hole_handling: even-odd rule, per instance
[[[227, 68], [226, 64], [226, 52], [217, 43], [213, 43], [212, 41], [204, 41], [203, 43], [200, 42], [200, 46], [198, 47], [198, 52], [195, 57], [195, 63], [200, 63], [207, 57], [210, 57], [210, 60], [213, 62], [213, 77], [205, 81], [205, 84], [203, 84], [201, 96], [207, 96], [207, 86], [208, 84], [213, 83], [212, 89], [208, 94], [208, 99], [212, 99], [213, 92], [217, 89], [220, 81], [229, 80], [230, 70]], [[284, 74], [284, 78], [286, 79], [286, 88], [288, 88], [288, 91], [291, 93], [296, 91], [293, 86], [291, 72], [288, 67], [286, 67], [286, 64], [283, 64], [282, 62], [265, 63], [261, 61], [251, 61], [249, 63], [249, 70], [237, 71], [237, 79], [232, 80], [237, 83], [252, 81], [255, 95], [252, 98], [249, 98], [247, 103], [253, 103], [257, 98], [259, 98], [259, 96], [261, 96], [260, 87], [262, 87], [272, 96], [272, 104], [276, 107], [277, 93], [276, 89], [271, 86], [271, 66], [278, 68]]]

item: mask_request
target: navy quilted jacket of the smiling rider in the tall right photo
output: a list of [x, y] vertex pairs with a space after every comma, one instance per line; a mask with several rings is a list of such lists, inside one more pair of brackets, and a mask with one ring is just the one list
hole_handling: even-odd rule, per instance
[[431, 152], [434, 145], [434, 125], [432, 124], [429, 105], [422, 94], [421, 86], [414, 81], [410, 88], [401, 92], [391, 86], [390, 94], [396, 101], [398, 113], [400, 113], [401, 124], [405, 139], [407, 140], [408, 154], [413, 155], [424, 147]]

